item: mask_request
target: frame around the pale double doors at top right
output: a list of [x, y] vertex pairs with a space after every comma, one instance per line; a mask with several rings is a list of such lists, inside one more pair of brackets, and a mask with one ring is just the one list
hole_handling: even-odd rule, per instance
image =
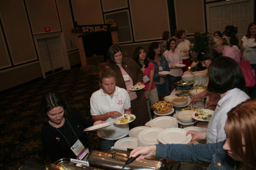
[[220, 5], [227, 5], [227, 4], [235, 4], [235, 3], [240, 3], [240, 2], [246, 2], [249, 1], [250, 3], [250, 21], [253, 22], [254, 21], [254, 0], [226, 0], [226, 1], [222, 1], [222, 2], [215, 2], [215, 3], [208, 3], [206, 4], [206, 19], [207, 19], [207, 32], [209, 30], [210, 27], [210, 7], [214, 7], [214, 6], [220, 6]]

